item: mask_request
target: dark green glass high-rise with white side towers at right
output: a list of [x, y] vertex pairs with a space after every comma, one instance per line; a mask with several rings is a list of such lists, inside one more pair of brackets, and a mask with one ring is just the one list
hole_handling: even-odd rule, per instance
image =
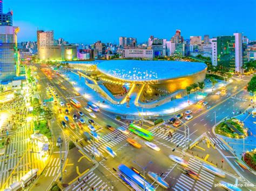
[[[217, 37], [217, 44], [212, 39], [212, 64], [233, 68], [235, 72], [242, 72], [243, 46], [241, 33], [234, 33], [233, 36]], [[217, 48], [217, 55], [214, 54]], [[217, 58], [217, 59], [216, 59]]]

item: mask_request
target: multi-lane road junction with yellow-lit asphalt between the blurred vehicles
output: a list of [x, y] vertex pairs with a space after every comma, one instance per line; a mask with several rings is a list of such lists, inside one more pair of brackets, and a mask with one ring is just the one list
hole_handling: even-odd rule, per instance
[[[84, 109], [86, 107], [87, 100], [82, 97], [78, 96], [75, 92], [75, 89], [72, 87], [69, 81], [66, 81], [62, 76], [52, 74], [52, 79], [49, 79], [45, 73], [39, 67], [38, 69], [38, 76], [39, 76], [39, 84], [41, 84], [41, 93], [43, 98], [48, 98], [49, 95], [46, 93], [46, 87], [48, 86], [47, 83], [50, 83], [55, 92], [58, 94], [60, 99], [65, 102], [69, 103], [71, 97], [76, 97], [76, 99], [83, 105], [82, 108], [75, 108], [72, 107], [70, 110], [70, 114], [68, 115], [70, 121], [72, 121], [72, 115], [75, 114], [77, 111], [82, 111], [84, 113], [83, 119], [86, 122], [84, 125], [84, 129], [81, 130], [78, 127], [75, 129], [70, 128], [63, 128], [60, 125], [60, 122], [63, 121], [64, 114], [58, 113], [58, 108], [61, 108], [59, 103], [57, 105], [53, 103], [48, 103], [48, 106], [52, 108], [55, 112], [52, 122], [52, 129], [53, 134], [55, 137], [61, 136], [66, 139], [71, 139], [73, 142], [77, 142], [77, 144], [82, 148], [83, 152], [87, 155], [92, 156], [92, 147], [93, 143], [87, 143], [83, 139], [82, 133], [84, 131], [89, 131], [87, 128], [87, 119], [90, 119], [89, 113]], [[232, 117], [233, 109], [235, 110], [235, 114], [237, 112], [243, 112], [248, 107], [248, 103], [250, 103], [250, 96], [244, 90], [244, 86], [249, 80], [249, 77], [244, 77], [244, 79], [234, 79], [234, 82], [229, 84], [226, 89], [225, 94], [215, 95], [215, 92], [211, 93], [205, 98], [205, 101], [208, 102], [208, 107], [203, 107], [201, 105], [191, 105], [190, 107], [180, 111], [181, 113], [185, 112], [185, 110], [189, 109], [192, 110], [193, 119], [191, 121], [186, 122], [185, 119], [182, 119], [184, 123], [190, 129], [190, 143], [193, 143], [197, 140], [198, 137], [204, 135], [205, 133], [210, 136], [211, 138], [215, 138], [214, 133], [212, 133], [212, 128], [216, 123], [221, 121], [225, 117]], [[65, 87], [64, 89], [60, 88], [58, 83], [61, 83], [61, 86]], [[65, 107], [62, 108], [64, 111]], [[130, 167], [137, 168], [140, 172], [142, 169], [138, 166], [145, 166], [148, 162], [151, 161], [151, 164], [147, 166], [146, 172], [152, 171], [155, 173], [162, 173], [162, 177], [171, 185], [173, 190], [207, 190], [207, 189], [214, 189], [218, 190], [221, 188], [214, 187], [220, 181], [220, 178], [217, 176], [208, 173], [201, 167], [202, 162], [191, 155], [187, 155], [186, 152], [183, 151], [185, 148], [185, 140], [188, 140], [188, 137], [184, 135], [184, 125], [181, 125], [179, 130], [176, 130], [173, 133], [173, 138], [169, 139], [165, 134], [165, 131], [158, 130], [156, 127], [150, 128], [149, 130], [154, 133], [155, 138], [153, 143], [158, 145], [160, 151], [154, 151], [151, 148], [145, 145], [145, 140], [134, 136], [130, 133], [130, 135], [124, 135], [120, 133], [118, 130], [110, 131], [105, 128], [107, 124], [113, 126], [113, 128], [118, 128], [119, 126], [123, 126], [127, 129], [127, 126], [122, 122], [116, 121], [111, 117], [108, 117], [104, 114], [104, 112], [97, 112], [95, 113], [97, 118], [93, 118], [96, 122], [96, 129], [99, 133], [101, 139], [99, 142], [96, 142], [94, 145], [98, 148], [98, 150], [102, 153], [102, 156], [96, 157], [96, 161], [98, 162], [98, 167], [94, 171], [89, 171], [83, 181], [75, 181], [72, 187], [68, 187], [72, 190], [83, 189], [87, 190], [91, 187], [94, 188], [111, 188], [114, 187], [115, 190], [129, 190], [131, 189], [124, 183], [118, 176], [117, 172], [113, 170], [118, 169], [120, 164], [125, 164]], [[175, 115], [175, 114], [174, 114]], [[170, 118], [173, 115], [165, 116], [165, 118]], [[215, 117], [216, 116], [216, 117]], [[91, 118], [92, 119], [92, 118]], [[76, 121], [74, 122], [76, 124]], [[166, 127], [167, 129], [169, 127]], [[127, 137], [132, 137], [137, 140], [142, 145], [142, 148], [138, 149], [126, 142]], [[212, 139], [215, 140], [215, 139]], [[56, 141], [56, 140], [55, 140]], [[179, 145], [177, 148], [176, 146]], [[116, 153], [117, 157], [112, 158], [110, 157], [104, 150], [105, 146], [111, 147]], [[173, 148], [176, 150], [173, 151]], [[225, 148], [225, 147], [223, 147]], [[53, 155], [50, 158], [49, 165], [45, 168], [43, 175], [45, 176], [44, 181], [48, 182], [50, 185], [51, 181], [55, 178], [55, 175], [59, 172], [58, 169], [50, 169], [50, 166], [55, 161], [55, 164], [58, 164], [57, 159], [59, 157], [57, 147], [53, 148]], [[67, 151], [64, 148], [64, 151]], [[231, 155], [229, 151], [223, 151], [225, 155]], [[185, 160], [188, 161], [190, 168], [192, 168], [195, 172], [199, 174], [199, 180], [194, 180], [191, 177], [185, 175], [181, 171], [181, 166], [177, 165], [175, 162], [169, 159], [169, 155], [174, 154], [180, 157], [183, 157]], [[54, 160], [54, 161], [53, 161]], [[57, 167], [57, 166], [56, 166]], [[49, 174], [52, 174], [49, 177]], [[250, 172], [246, 172], [250, 173]], [[244, 175], [243, 173], [242, 175]], [[250, 178], [250, 177], [249, 177]], [[247, 180], [253, 182], [253, 180], [246, 177]], [[147, 180], [150, 180], [146, 176]], [[225, 181], [230, 183], [241, 183], [241, 180], [238, 176], [227, 174]], [[47, 185], [47, 183], [46, 183]], [[155, 184], [160, 190], [161, 188]]]

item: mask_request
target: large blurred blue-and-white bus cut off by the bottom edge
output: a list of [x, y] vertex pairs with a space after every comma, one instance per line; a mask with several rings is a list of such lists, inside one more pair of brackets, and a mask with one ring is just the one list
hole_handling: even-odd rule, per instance
[[121, 164], [118, 166], [119, 176], [124, 180], [128, 185], [130, 185], [135, 190], [143, 190], [144, 181], [145, 181], [145, 190], [155, 190], [154, 186], [151, 183], [147, 182], [142, 176], [133, 172], [129, 167]]

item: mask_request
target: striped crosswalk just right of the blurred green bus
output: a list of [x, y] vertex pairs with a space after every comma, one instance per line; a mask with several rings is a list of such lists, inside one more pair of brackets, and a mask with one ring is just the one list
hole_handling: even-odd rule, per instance
[[172, 137], [168, 137], [168, 132], [163, 129], [158, 130], [157, 128], [155, 128], [151, 130], [151, 132], [155, 137], [164, 139], [166, 142], [171, 142], [175, 145], [179, 145], [180, 147], [185, 147], [186, 142], [188, 142], [188, 137], [185, 138], [185, 136], [181, 135], [180, 133], [173, 132]]

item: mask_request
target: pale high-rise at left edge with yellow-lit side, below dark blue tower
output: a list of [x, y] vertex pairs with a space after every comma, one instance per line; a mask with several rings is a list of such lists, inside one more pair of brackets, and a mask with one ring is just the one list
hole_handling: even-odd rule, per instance
[[18, 32], [19, 27], [0, 26], [0, 84], [12, 81], [18, 72]]

